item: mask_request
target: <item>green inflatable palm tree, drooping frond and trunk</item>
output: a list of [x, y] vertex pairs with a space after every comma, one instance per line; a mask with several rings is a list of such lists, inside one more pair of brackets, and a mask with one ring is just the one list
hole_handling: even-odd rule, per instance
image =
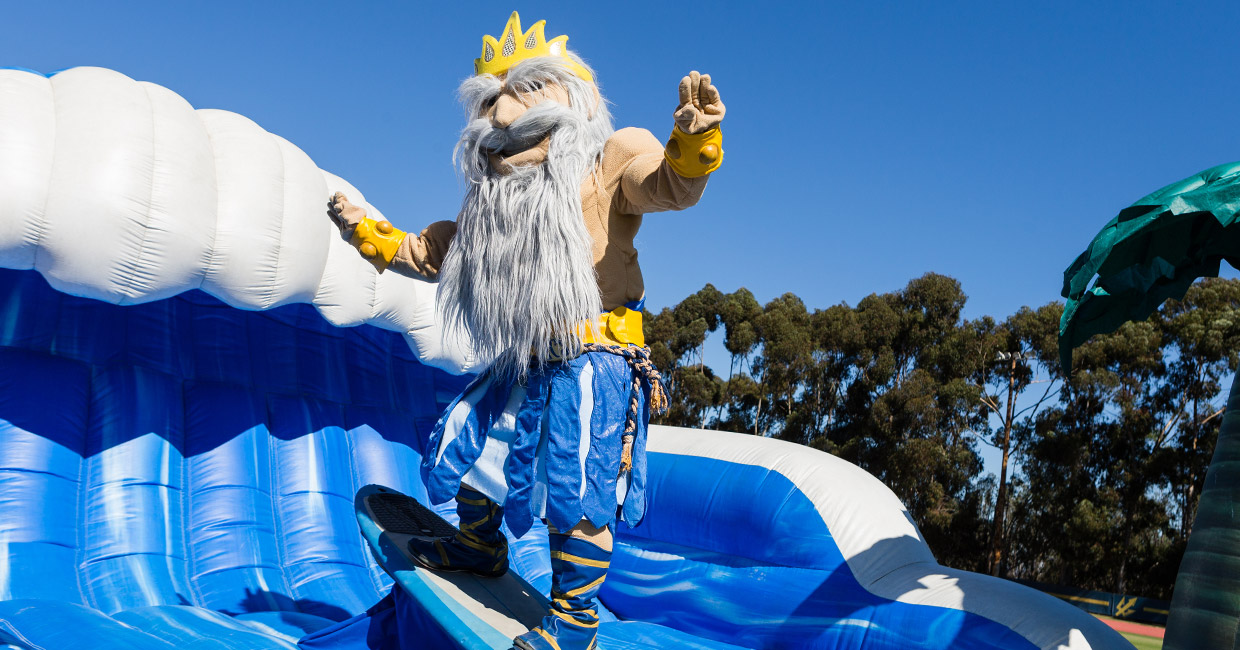
[[[1226, 260], [1240, 267], [1240, 162], [1168, 185], [1122, 210], [1064, 272], [1059, 329], [1065, 373], [1071, 351], [1095, 334], [1151, 315]], [[1096, 277], [1096, 280], [1095, 280]], [[1094, 284], [1090, 285], [1090, 282]], [[1238, 648], [1240, 624], [1240, 383], [1202, 491], [1176, 579], [1164, 646]]]

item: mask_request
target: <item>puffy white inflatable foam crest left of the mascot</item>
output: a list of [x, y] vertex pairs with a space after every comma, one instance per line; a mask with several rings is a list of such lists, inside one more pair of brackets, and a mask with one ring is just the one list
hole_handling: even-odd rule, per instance
[[0, 69], [0, 267], [114, 304], [202, 289], [239, 309], [312, 304], [404, 334], [424, 363], [476, 366], [436, 321], [435, 284], [379, 275], [327, 217], [336, 191], [288, 140], [103, 68]]

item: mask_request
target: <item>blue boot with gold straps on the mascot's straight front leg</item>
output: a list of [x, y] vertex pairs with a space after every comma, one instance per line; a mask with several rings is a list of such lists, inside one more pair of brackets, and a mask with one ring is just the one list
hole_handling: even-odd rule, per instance
[[551, 542], [551, 613], [537, 628], [517, 636], [518, 650], [594, 650], [599, 633], [595, 597], [611, 563], [611, 531], [573, 535], [548, 526]]

